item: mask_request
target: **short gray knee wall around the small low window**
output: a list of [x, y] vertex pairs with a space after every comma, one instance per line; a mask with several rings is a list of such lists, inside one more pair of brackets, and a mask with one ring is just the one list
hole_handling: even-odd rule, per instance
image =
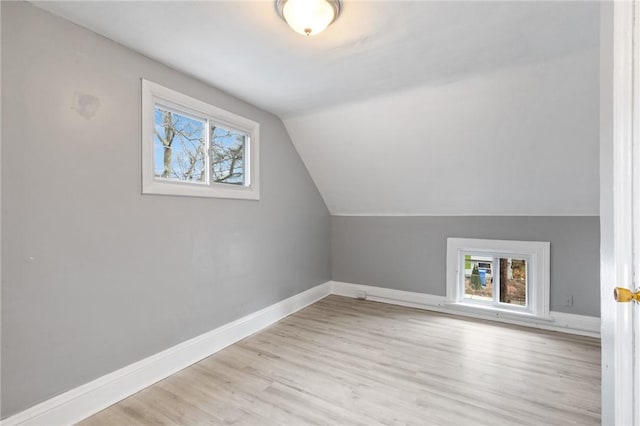
[[[598, 217], [334, 216], [336, 281], [444, 296], [448, 237], [551, 242], [551, 310], [600, 315]], [[573, 295], [573, 307], [562, 306]]]

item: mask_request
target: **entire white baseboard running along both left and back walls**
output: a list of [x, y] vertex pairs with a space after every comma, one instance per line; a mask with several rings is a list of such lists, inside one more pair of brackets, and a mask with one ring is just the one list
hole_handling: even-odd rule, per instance
[[394, 305], [585, 336], [599, 337], [600, 335], [600, 318], [595, 317], [561, 312], [551, 312], [549, 320], [495, 317], [491, 314], [456, 309], [447, 303], [444, 296], [329, 281], [53, 397], [8, 417], [1, 424], [2, 426], [53, 426], [77, 423], [329, 294], [353, 298], [366, 295], [367, 300]]

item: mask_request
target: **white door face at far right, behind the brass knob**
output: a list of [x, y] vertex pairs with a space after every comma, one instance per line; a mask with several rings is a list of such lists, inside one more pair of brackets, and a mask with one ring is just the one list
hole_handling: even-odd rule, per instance
[[[638, 233], [634, 215], [638, 213], [638, 197], [634, 197], [634, 177], [640, 174], [636, 159], [637, 133], [640, 132], [637, 117], [639, 109], [637, 75], [638, 57], [634, 55], [634, 15], [636, 0], [614, 2], [613, 34], [613, 237], [615, 253], [615, 285], [634, 289], [634, 236]], [[637, 22], [637, 19], [636, 19]], [[636, 38], [636, 40], [638, 40]], [[635, 63], [635, 69], [634, 69]], [[635, 135], [634, 135], [635, 133]], [[634, 170], [635, 168], [635, 170]], [[636, 223], [634, 223], [636, 222]], [[639, 240], [636, 240], [639, 241]], [[611, 295], [613, 303], [613, 295]], [[605, 303], [606, 300], [604, 300]], [[603, 307], [605, 308], [605, 307]], [[617, 425], [633, 425], [634, 419], [634, 319], [631, 303], [615, 305], [615, 365], [614, 365], [614, 416]], [[637, 308], [635, 308], [637, 309]], [[637, 413], [635, 413], [637, 415]]]

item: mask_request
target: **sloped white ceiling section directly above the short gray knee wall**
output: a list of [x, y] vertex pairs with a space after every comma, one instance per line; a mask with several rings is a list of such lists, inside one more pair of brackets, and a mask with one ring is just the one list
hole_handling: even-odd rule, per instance
[[285, 119], [333, 214], [598, 214], [598, 54]]

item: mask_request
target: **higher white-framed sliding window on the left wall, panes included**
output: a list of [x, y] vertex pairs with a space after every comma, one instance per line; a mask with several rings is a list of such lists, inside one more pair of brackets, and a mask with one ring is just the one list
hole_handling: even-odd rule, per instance
[[142, 192], [258, 200], [259, 124], [142, 80]]

